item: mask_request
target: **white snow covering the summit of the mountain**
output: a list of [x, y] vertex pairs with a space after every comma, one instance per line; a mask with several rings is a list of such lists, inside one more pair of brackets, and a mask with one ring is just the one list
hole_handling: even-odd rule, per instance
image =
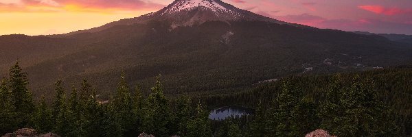
[[163, 14], [171, 14], [182, 10], [192, 10], [196, 7], [209, 8], [214, 12], [230, 12], [231, 10], [220, 5], [216, 0], [180, 0], [176, 1], [174, 5], [165, 10]]

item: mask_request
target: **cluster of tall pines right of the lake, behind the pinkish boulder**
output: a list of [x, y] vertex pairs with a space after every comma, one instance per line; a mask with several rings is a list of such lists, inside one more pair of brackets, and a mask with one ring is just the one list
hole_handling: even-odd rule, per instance
[[345, 86], [339, 75], [328, 84], [318, 103], [304, 96], [290, 79], [269, 107], [259, 103], [251, 132], [258, 136], [304, 136], [325, 129], [337, 136], [400, 136], [395, 116], [378, 99], [374, 83], [355, 76]]

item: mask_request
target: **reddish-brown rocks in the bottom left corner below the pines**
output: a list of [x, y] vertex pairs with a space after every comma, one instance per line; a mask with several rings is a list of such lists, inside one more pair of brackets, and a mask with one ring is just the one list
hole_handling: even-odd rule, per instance
[[5, 134], [1, 137], [60, 137], [56, 134], [37, 134], [36, 130], [30, 128], [17, 129], [16, 132]]

